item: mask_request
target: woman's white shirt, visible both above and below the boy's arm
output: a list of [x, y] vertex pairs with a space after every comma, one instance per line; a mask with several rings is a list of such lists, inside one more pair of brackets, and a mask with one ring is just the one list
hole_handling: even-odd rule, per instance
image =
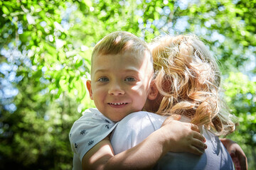
[[[112, 133], [111, 143], [114, 154], [138, 145], [151, 132], [159, 129], [164, 120], [164, 116], [148, 112], [127, 115]], [[218, 137], [204, 129], [203, 135], [208, 146], [203, 155], [169, 152], [154, 169], [234, 169], [230, 154]]]

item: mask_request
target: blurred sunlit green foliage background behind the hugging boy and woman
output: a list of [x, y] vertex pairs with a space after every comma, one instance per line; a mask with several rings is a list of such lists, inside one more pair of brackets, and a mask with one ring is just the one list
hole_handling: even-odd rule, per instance
[[94, 107], [85, 81], [108, 33], [146, 42], [193, 33], [208, 43], [240, 126], [228, 138], [256, 169], [256, 1], [0, 1], [0, 169], [72, 169], [68, 133]]

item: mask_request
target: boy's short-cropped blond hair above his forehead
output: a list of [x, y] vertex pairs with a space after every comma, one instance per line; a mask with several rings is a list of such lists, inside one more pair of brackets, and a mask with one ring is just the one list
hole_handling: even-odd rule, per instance
[[97, 55], [117, 55], [126, 51], [136, 52], [138, 57], [144, 57], [145, 54], [148, 55], [149, 60], [151, 60], [152, 63], [152, 67], [149, 66], [149, 69], [153, 72], [153, 61], [148, 45], [144, 40], [141, 40], [136, 35], [126, 31], [110, 33], [97, 42], [97, 45], [95, 45], [95, 48], [92, 51], [91, 62], [93, 62], [93, 58]]

